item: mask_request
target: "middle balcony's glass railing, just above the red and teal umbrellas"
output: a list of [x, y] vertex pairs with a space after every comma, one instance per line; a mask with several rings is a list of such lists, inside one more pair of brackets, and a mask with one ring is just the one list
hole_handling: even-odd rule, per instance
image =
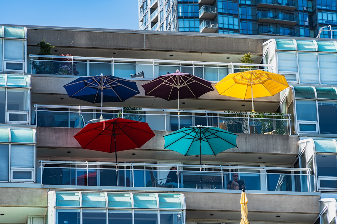
[[[122, 117], [147, 122], [152, 130], [178, 130], [177, 109], [123, 107], [34, 105], [32, 121], [38, 127], [82, 128], [88, 121]], [[180, 110], [180, 127], [195, 125], [215, 126], [234, 133], [285, 134], [290, 133], [289, 114], [231, 113], [215, 110]]]

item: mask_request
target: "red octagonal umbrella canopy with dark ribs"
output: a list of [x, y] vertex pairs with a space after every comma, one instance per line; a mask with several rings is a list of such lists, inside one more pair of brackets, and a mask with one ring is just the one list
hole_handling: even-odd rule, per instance
[[74, 138], [82, 148], [115, 152], [117, 163], [117, 151], [139, 148], [153, 136], [146, 122], [115, 118], [87, 124]]

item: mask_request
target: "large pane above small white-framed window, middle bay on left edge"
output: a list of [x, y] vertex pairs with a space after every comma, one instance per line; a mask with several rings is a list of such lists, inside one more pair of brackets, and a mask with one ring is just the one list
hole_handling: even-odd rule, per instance
[[28, 89], [7, 89], [7, 110], [28, 110]]

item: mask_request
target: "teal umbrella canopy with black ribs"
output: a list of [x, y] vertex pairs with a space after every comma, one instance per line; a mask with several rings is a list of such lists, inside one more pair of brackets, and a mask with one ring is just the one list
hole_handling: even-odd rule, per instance
[[163, 136], [164, 148], [177, 151], [183, 155], [216, 155], [226, 149], [238, 147], [237, 134], [217, 127], [198, 125], [184, 127]]

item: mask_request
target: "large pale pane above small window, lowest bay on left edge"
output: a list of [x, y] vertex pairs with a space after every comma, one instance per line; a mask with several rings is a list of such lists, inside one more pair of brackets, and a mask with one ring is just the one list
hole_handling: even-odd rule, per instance
[[10, 147], [10, 167], [33, 168], [33, 145], [14, 145]]

